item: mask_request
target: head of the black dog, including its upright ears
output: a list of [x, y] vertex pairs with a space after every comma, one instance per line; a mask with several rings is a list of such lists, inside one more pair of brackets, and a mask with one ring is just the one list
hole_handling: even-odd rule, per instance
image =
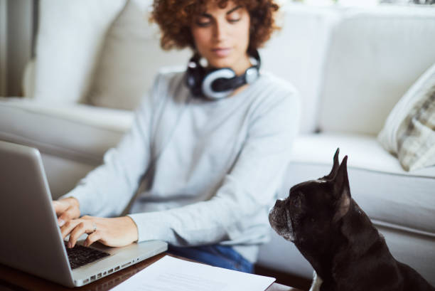
[[347, 157], [339, 165], [337, 149], [328, 176], [291, 187], [289, 196], [277, 200], [269, 213], [269, 222], [276, 233], [294, 242], [302, 252], [324, 245], [348, 211], [350, 190], [346, 161]]

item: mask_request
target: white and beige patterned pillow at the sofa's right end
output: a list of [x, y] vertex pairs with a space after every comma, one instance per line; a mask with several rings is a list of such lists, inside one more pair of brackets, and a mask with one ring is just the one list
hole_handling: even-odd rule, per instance
[[397, 102], [378, 140], [406, 171], [435, 165], [435, 64]]

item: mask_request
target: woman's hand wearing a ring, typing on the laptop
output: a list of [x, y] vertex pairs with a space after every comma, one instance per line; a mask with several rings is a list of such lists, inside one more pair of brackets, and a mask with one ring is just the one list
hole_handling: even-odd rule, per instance
[[129, 216], [117, 218], [100, 218], [83, 216], [79, 219], [68, 221], [60, 228], [62, 237], [70, 235], [68, 248], [74, 248], [77, 239], [83, 233], [88, 236], [83, 245], [89, 246], [99, 241], [110, 247], [129, 245], [138, 239], [136, 223]]

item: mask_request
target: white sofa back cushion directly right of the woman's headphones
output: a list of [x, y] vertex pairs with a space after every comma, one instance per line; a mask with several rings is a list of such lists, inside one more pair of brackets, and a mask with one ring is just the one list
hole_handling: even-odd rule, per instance
[[300, 92], [300, 130], [318, 127], [318, 104], [323, 84], [323, 66], [331, 29], [338, 21], [335, 9], [282, 1], [277, 18], [280, 31], [259, 50], [262, 68], [291, 82]]

